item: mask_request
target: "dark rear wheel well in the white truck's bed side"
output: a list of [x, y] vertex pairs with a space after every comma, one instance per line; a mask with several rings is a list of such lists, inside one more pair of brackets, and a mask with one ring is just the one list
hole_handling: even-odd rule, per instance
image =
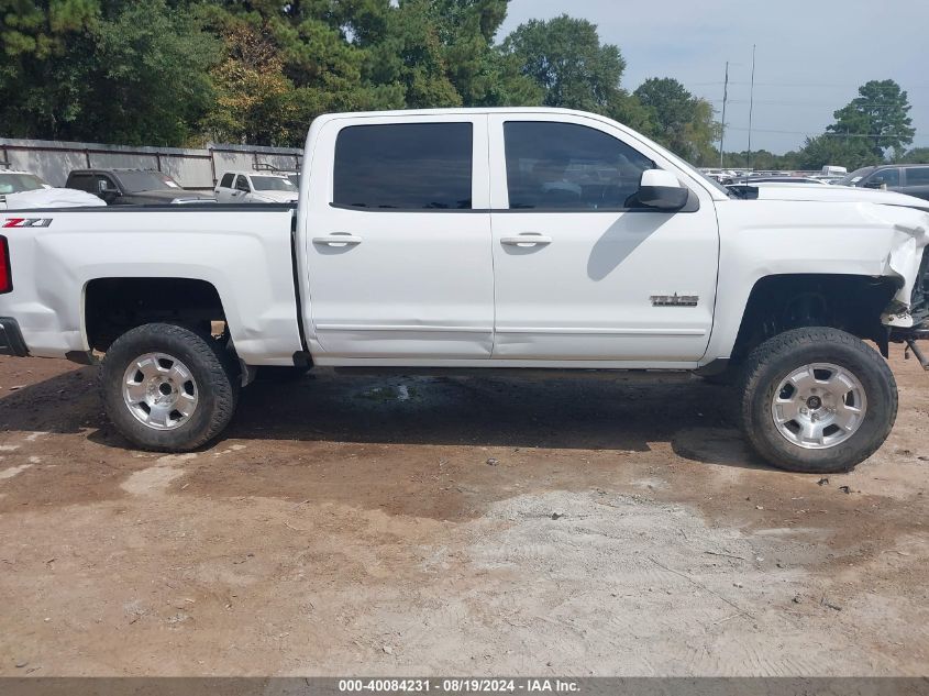
[[88, 344], [103, 352], [130, 329], [153, 321], [207, 333], [225, 330], [217, 289], [190, 278], [97, 278], [85, 289], [84, 316]]

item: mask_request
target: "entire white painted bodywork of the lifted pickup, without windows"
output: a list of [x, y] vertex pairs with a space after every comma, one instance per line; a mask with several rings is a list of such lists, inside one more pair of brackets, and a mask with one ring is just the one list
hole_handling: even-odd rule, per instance
[[[599, 129], [673, 173], [699, 209], [504, 212], [507, 119]], [[414, 120], [473, 123], [477, 210], [332, 207], [339, 130]], [[896, 299], [907, 303], [929, 243], [929, 213], [917, 209], [926, 201], [826, 186], [765, 187], [759, 200], [733, 200], [620, 124], [550, 109], [320, 117], [307, 139], [299, 201], [292, 254], [288, 210], [48, 211], [48, 228], [0, 231], [13, 278], [0, 317], [16, 319], [31, 354], [62, 357], [88, 350], [90, 280], [192, 278], [215, 287], [235, 349], [253, 365], [291, 364], [303, 349], [302, 322], [320, 365], [679, 369], [730, 355], [761, 278], [893, 277]], [[522, 232], [552, 242], [502, 248], [501, 237]], [[361, 243], [313, 242], [335, 233]], [[674, 292], [699, 300], [653, 306], [652, 296]]]

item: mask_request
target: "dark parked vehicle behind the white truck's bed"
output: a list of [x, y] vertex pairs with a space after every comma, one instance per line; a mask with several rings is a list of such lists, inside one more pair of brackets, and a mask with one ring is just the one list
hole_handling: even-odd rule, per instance
[[210, 194], [188, 191], [163, 172], [154, 169], [74, 169], [68, 188], [99, 197], [110, 206], [215, 202]]

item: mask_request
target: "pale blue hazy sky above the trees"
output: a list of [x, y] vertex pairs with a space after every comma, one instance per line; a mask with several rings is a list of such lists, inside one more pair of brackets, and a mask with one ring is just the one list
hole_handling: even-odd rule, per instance
[[709, 100], [717, 120], [729, 60], [727, 152], [748, 146], [752, 44], [752, 150], [796, 150], [834, 121], [859, 86], [888, 78], [909, 96], [913, 146], [929, 146], [926, 0], [511, 0], [498, 37], [565, 13], [597, 24], [600, 41], [619, 46], [622, 87], [674, 77]]

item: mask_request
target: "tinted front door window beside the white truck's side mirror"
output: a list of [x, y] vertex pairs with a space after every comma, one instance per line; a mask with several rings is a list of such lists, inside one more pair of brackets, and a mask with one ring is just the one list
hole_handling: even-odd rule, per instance
[[574, 123], [504, 125], [510, 209], [616, 210], [654, 163], [626, 143]]

